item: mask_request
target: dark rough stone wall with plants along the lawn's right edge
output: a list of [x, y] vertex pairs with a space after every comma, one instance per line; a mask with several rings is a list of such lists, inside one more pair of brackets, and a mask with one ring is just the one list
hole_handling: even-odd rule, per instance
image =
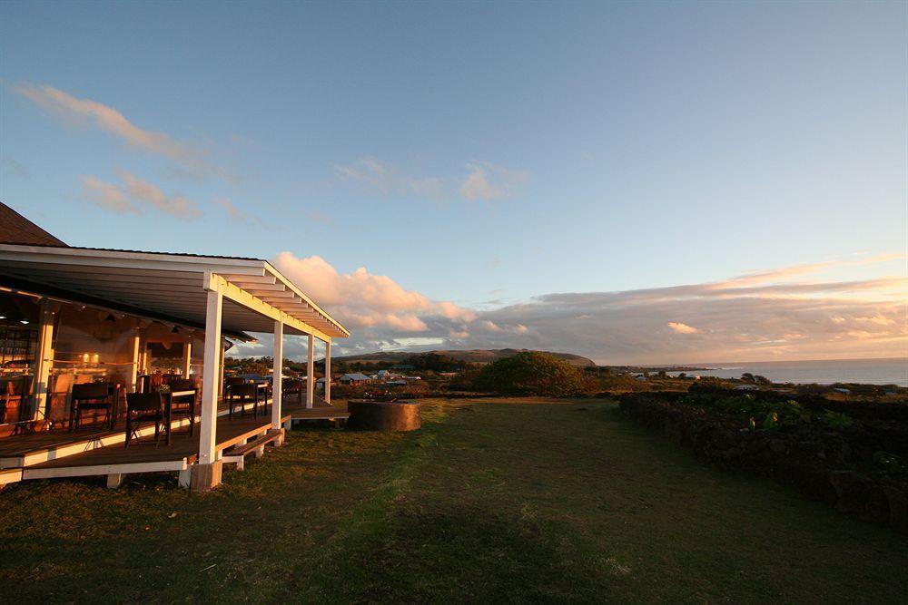
[[772, 477], [812, 500], [908, 533], [908, 481], [881, 476], [868, 466], [874, 452], [908, 451], [908, 426], [883, 420], [836, 431], [815, 423], [753, 429], [732, 417], [677, 405], [681, 395], [627, 394], [619, 401], [625, 415], [699, 460]]

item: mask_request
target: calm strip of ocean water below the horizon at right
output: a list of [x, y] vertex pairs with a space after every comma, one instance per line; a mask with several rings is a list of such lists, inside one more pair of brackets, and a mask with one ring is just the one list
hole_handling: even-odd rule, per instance
[[[750, 363], [691, 364], [708, 370], [687, 372], [688, 376], [718, 376], [738, 378], [745, 372], [766, 376], [775, 383], [832, 385], [833, 383], [862, 383], [864, 385], [908, 386], [908, 358], [896, 359], [834, 359], [825, 361], [762, 361]], [[676, 372], [669, 374], [676, 375]]]

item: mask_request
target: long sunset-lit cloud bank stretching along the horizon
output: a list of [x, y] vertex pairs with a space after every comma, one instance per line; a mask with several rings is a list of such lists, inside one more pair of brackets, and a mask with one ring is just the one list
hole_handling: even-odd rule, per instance
[[[546, 294], [488, 310], [433, 300], [365, 268], [340, 273], [321, 257], [284, 252], [273, 262], [350, 328], [352, 337], [335, 344], [337, 355], [526, 347], [600, 363], [657, 364], [908, 356], [908, 278], [879, 275], [883, 262], [895, 258], [665, 288]], [[799, 280], [840, 266], [871, 273]]]

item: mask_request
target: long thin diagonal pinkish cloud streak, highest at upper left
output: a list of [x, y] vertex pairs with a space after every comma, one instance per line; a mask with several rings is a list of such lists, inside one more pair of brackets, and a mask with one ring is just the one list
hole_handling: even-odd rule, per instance
[[202, 151], [183, 142], [175, 141], [170, 135], [163, 132], [139, 128], [130, 122], [123, 113], [109, 105], [91, 99], [78, 99], [48, 84], [36, 86], [32, 83], [22, 83], [16, 86], [15, 90], [26, 99], [35, 102], [46, 112], [53, 113], [69, 122], [93, 125], [104, 132], [113, 134], [133, 149], [175, 161], [186, 171], [195, 174], [227, 176], [225, 171], [208, 161]]

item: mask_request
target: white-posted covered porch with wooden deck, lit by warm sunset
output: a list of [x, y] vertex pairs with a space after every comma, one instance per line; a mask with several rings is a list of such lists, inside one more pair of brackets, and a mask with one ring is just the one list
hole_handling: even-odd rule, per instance
[[[21, 387], [17, 397], [7, 397], [7, 404], [15, 400], [16, 407], [10, 417], [10, 405], [5, 405], [5, 425], [15, 425], [15, 429], [0, 439], [0, 483], [76, 473], [66, 474], [64, 469], [79, 468], [82, 472], [77, 474], [94, 474], [103, 467], [105, 472], [97, 474], [114, 475], [167, 467], [183, 471], [183, 483], [199, 490], [211, 489], [220, 483], [220, 454], [245, 441], [250, 431], [253, 435], [281, 432], [290, 427], [292, 417], [343, 417], [345, 413], [331, 408], [330, 381], [321, 407], [318, 405], [314, 346], [316, 339], [324, 343], [325, 374], [331, 376], [331, 341], [349, 333], [267, 261], [0, 244], [0, 295], [28, 299], [29, 304], [18, 306], [35, 309], [35, 317], [23, 320], [23, 325], [34, 320], [34, 350], [22, 347], [13, 368], [19, 376], [11, 378], [21, 378], [23, 384], [31, 386]], [[87, 317], [94, 317], [89, 323], [96, 329], [80, 334], [86, 348], [82, 352], [73, 350], [78, 347], [71, 346], [67, 330], [73, 331], [70, 324], [81, 325], [86, 310], [92, 314]], [[224, 351], [228, 338], [249, 339], [247, 332], [268, 332], [274, 337], [270, 414], [265, 420], [260, 416], [254, 426], [248, 419], [228, 420], [223, 416]], [[299, 399], [293, 397], [293, 405], [283, 405], [283, 381], [276, 377], [283, 374], [284, 337], [291, 335], [308, 339], [307, 379], [305, 396], [301, 393]], [[60, 382], [54, 378], [88, 369], [110, 376], [115, 370], [117, 391], [113, 396], [120, 402], [130, 393], [153, 388], [143, 385], [142, 379], [149, 376], [152, 338], [177, 344], [179, 358], [174, 374], [198, 384], [192, 437], [186, 432], [190, 421], [184, 418], [173, 422], [169, 446], [155, 448], [142, 443], [141, 437], [149, 434], [146, 426], [139, 443], [126, 450], [122, 416], [117, 414], [109, 425], [73, 433], [65, 430], [71, 422], [65, 417], [67, 393], [58, 385], [52, 388]], [[96, 343], [95, 348], [102, 351], [93, 353], [86, 342]], [[11, 368], [4, 369], [7, 378]], [[321, 411], [329, 409], [327, 413]], [[150, 449], [156, 451], [149, 454], [146, 451]], [[84, 464], [86, 459], [106, 462]], [[181, 460], [185, 468], [171, 468], [183, 464]], [[111, 470], [112, 465], [122, 468]], [[17, 472], [21, 473], [18, 478]]]

